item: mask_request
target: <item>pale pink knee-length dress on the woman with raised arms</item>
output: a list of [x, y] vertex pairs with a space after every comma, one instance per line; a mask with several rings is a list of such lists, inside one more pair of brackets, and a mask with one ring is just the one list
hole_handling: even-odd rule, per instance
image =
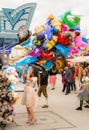
[[24, 93], [22, 96], [22, 105], [26, 107], [36, 107], [37, 106], [37, 97], [36, 92], [34, 91], [34, 85], [37, 82], [37, 77], [33, 77], [32, 81], [27, 80], [26, 86], [24, 87]]

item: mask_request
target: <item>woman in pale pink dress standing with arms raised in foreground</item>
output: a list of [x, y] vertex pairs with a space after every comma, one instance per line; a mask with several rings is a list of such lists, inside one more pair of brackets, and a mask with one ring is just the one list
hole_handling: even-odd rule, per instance
[[37, 82], [37, 71], [33, 69], [32, 75], [27, 75], [27, 82], [24, 87], [24, 93], [22, 97], [21, 104], [26, 106], [28, 120], [26, 123], [34, 124], [36, 121], [36, 116], [33, 108], [37, 106], [37, 97], [34, 91], [34, 86]]

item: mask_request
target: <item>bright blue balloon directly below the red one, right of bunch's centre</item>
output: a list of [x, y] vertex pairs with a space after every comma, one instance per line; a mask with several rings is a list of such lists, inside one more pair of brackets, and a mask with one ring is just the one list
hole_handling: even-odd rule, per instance
[[55, 48], [59, 54], [64, 55], [66, 58], [68, 58], [68, 52], [70, 50], [69, 48], [67, 48], [63, 45], [60, 45], [60, 44], [56, 44]]

